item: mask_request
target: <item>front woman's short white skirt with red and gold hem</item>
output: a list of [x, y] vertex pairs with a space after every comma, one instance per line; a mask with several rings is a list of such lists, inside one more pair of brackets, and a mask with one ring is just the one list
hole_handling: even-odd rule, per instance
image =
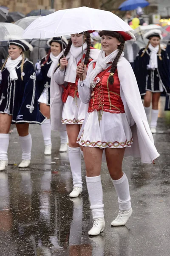
[[87, 113], [77, 143], [84, 147], [131, 147], [133, 137], [126, 114], [103, 111], [99, 122], [99, 111]]

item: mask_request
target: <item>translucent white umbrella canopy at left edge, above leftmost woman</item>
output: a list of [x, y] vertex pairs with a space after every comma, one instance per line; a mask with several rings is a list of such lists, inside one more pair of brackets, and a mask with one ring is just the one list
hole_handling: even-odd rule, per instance
[[[13, 23], [0, 23], [0, 41], [8, 41], [10, 39], [22, 39], [24, 30]], [[3, 45], [3, 44], [1, 44]], [[6, 42], [5, 44], [6, 45]]]

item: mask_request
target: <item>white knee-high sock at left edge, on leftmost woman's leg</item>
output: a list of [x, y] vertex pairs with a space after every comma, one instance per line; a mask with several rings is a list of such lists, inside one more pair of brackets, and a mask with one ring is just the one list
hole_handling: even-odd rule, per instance
[[9, 134], [0, 134], [0, 160], [8, 161]]

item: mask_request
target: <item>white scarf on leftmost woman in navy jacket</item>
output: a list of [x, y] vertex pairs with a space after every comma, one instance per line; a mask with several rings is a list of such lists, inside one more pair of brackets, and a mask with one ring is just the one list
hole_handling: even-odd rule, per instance
[[12, 60], [11, 57], [8, 57], [8, 60], [6, 61], [6, 68], [9, 72], [9, 76], [12, 81], [18, 79], [17, 72], [16, 72], [15, 68], [20, 63], [20, 61], [22, 61], [22, 59], [23, 59], [23, 56], [20, 55], [15, 60]]

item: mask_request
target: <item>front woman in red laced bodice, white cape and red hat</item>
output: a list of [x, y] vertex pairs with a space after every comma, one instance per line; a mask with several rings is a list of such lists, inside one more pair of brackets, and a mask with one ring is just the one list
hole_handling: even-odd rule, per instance
[[[106, 158], [111, 181], [116, 189], [119, 213], [111, 226], [125, 225], [132, 214], [129, 183], [122, 172], [123, 157], [141, 157], [153, 163], [158, 152], [147, 123], [141, 96], [130, 63], [123, 57], [130, 32], [101, 31], [102, 51], [91, 61], [88, 72], [79, 64], [77, 74], [79, 98], [88, 103], [77, 142], [83, 146], [86, 182], [94, 224], [88, 232], [99, 235], [105, 228], [101, 183], [102, 154]], [[82, 82], [84, 86], [82, 86]]]

